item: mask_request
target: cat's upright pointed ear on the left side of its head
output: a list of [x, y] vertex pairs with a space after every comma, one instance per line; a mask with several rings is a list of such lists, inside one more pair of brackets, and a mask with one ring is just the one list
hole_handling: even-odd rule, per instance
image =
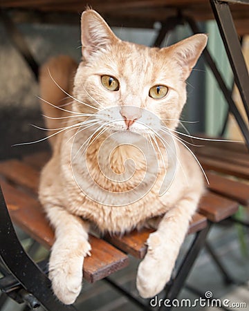
[[81, 19], [82, 56], [89, 59], [94, 53], [118, 40], [106, 21], [94, 10], [86, 10]]

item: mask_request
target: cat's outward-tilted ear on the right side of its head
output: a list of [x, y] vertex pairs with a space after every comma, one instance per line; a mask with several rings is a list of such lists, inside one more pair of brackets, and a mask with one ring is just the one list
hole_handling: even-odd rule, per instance
[[172, 58], [182, 67], [183, 79], [189, 77], [207, 42], [207, 35], [197, 34], [169, 47]]

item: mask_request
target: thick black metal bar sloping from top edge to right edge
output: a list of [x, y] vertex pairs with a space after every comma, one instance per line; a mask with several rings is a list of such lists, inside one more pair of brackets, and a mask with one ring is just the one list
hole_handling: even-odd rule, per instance
[[228, 3], [210, 0], [241, 100], [249, 120], [249, 75]]

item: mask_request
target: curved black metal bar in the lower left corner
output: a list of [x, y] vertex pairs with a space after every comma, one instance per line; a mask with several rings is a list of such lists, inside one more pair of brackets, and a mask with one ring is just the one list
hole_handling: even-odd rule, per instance
[[52, 290], [50, 281], [39, 267], [26, 254], [12, 225], [6, 202], [0, 187], [0, 258], [23, 288], [48, 311], [75, 311], [72, 305], [59, 302]]

